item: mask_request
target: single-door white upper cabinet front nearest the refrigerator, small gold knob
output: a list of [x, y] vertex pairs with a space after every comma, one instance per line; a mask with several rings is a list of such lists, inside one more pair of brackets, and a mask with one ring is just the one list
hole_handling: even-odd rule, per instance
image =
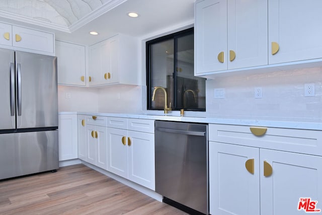
[[56, 41], [58, 84], [85, 86], [85, 46]]

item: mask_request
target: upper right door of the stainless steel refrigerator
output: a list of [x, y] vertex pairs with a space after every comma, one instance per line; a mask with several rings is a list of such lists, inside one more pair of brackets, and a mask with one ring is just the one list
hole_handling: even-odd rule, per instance
[[16, 51], [17, 128], [58, 126], [57, 57]]

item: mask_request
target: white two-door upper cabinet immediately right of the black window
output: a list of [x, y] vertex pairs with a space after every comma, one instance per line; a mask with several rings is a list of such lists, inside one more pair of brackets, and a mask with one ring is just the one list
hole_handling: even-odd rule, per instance
[[267, 64], [267, 0], [196, 3], [195, 74]]

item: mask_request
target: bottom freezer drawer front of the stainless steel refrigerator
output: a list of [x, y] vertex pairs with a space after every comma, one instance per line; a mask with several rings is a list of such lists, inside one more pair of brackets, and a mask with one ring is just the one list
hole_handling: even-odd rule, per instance
[[58, 130], [0, 134], [0, 179], [59, 168]]

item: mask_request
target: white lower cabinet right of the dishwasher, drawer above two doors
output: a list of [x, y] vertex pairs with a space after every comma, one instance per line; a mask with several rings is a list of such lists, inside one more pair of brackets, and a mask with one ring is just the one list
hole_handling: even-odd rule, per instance
[[[284, 144], [297, 135], [296, 145], [304, 146], [306, 130], [267, 128], [266, 134], [256, 136], [246, 127], [209, 126], [211, 214], [306, 214], [308, 207], [298, 210], [300, 198], [322, 202], [321, 156], [263, 149], [269, 142], [274, 148], [279, 144], [274, 136], [283, 140], [282, 134]], [[307, 132], [319, 140], [320, 131]], [[251, 145], [257, 140], [258, 147], [240, 145], [246, 139]], [[315, 209], [321, 208], [317, 203]]]

